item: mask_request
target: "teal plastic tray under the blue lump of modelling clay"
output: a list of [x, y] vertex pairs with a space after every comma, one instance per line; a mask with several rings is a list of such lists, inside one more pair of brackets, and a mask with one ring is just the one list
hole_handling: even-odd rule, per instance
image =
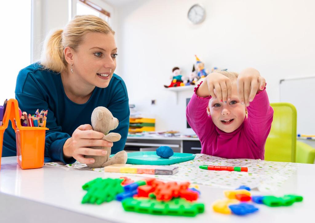
[[174, 153], [170, 158], [161, 158], [156, 151], [128, 153], [128, 164], [169, 165], [194, 159], [196, 154]]

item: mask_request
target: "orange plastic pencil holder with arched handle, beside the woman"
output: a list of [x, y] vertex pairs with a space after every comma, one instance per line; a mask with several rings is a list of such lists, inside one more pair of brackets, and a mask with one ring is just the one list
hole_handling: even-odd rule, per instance
[[[16, 121], [14, 121], [14, 119]], [[44, 165], [45, 127], [21, 126], [18, 102], [10, 99], [0, 126], [0, 154], [2, 154], [3, 133], [11, 120], [16, 136], [16, 158], [22, 169], [41, 168]], [[1, 157], [0, 157], [1, 164]]]

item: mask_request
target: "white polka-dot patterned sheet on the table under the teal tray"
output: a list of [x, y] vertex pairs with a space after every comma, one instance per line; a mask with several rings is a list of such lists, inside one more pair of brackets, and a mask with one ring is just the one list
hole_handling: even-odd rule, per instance
[[[67, 165], [61, 162], [53, 162], [45, 165], [104, 171], [104, 168], [91, 169], [86, 164], [79, 162]], [[179, 172], [175, 175], [121, 174], [167, 181], [190, 181], [193, 184], [226, 189], [235, 189], [240, 185], [246, 185], [252, 189], [257, 188], [261, 192], [274, 192], [282, 186], [299, 166], [297, 163], [272, 162], [261, 159], [225, 159], [206, 154], [197, 154], [193, 160], [172, 165], [179, 167]], [[203, 170], [199, 168], [200, 165], [248, 167], [248, 172]]]

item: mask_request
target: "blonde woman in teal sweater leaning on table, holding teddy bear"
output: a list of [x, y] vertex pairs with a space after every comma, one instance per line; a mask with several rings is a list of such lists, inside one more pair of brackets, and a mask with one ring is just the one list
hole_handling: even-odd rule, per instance
[[[112, 147], [112, 153], [123, 150], [129, 128], [129, 99], [122, 78], [114, 74], [117, 47], [115, 32], [97, 16], [80, 15], [64, 30], [47, 38], [42, 59], [22, 69], [17, 77], [15, 97], [22, 111], [34, 114], [48, 109], [45, 161], [75, 160], [93, 163], [84, 155], [104, 155], [93, 146]], [[91, 114], [104, 106], [119, 120], [115, 132], [120, 141], [102, 140], [93, 131]], [[15, 134], [4, 133], [3, 156], [15, 156]]]

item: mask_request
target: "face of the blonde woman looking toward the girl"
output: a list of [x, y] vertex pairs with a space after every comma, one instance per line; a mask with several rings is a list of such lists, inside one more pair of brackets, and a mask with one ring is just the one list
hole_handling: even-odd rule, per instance
[[73, 53], [73, 73], [90, 85], [105, 88], [116, 69], [116, 56], [112, 33], [89, 32]]

